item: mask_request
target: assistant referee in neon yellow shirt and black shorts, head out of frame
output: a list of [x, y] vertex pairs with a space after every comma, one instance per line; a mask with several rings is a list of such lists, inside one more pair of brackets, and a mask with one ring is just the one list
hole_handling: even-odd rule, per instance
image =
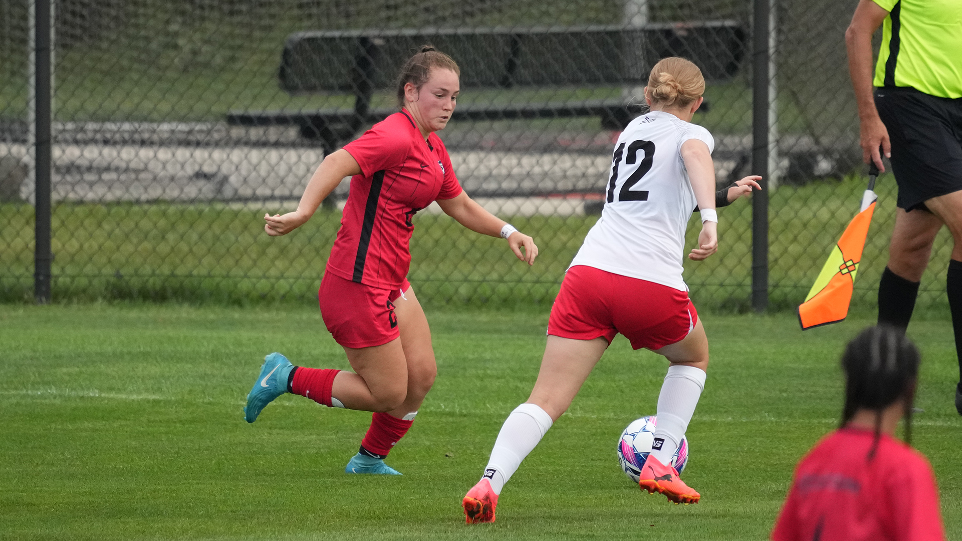
[[[882, 23], [873, 78], [872, 35]], [[865, 162], [884, 171], [881, 147], [899, 185], [878, 322], [904, 332], [935, 235], [949, 226], [946, 290], [962, 373], [962, 2], [860, 0], [846, 45]], [[955, 409], [962, 415], [962, 383]]]

